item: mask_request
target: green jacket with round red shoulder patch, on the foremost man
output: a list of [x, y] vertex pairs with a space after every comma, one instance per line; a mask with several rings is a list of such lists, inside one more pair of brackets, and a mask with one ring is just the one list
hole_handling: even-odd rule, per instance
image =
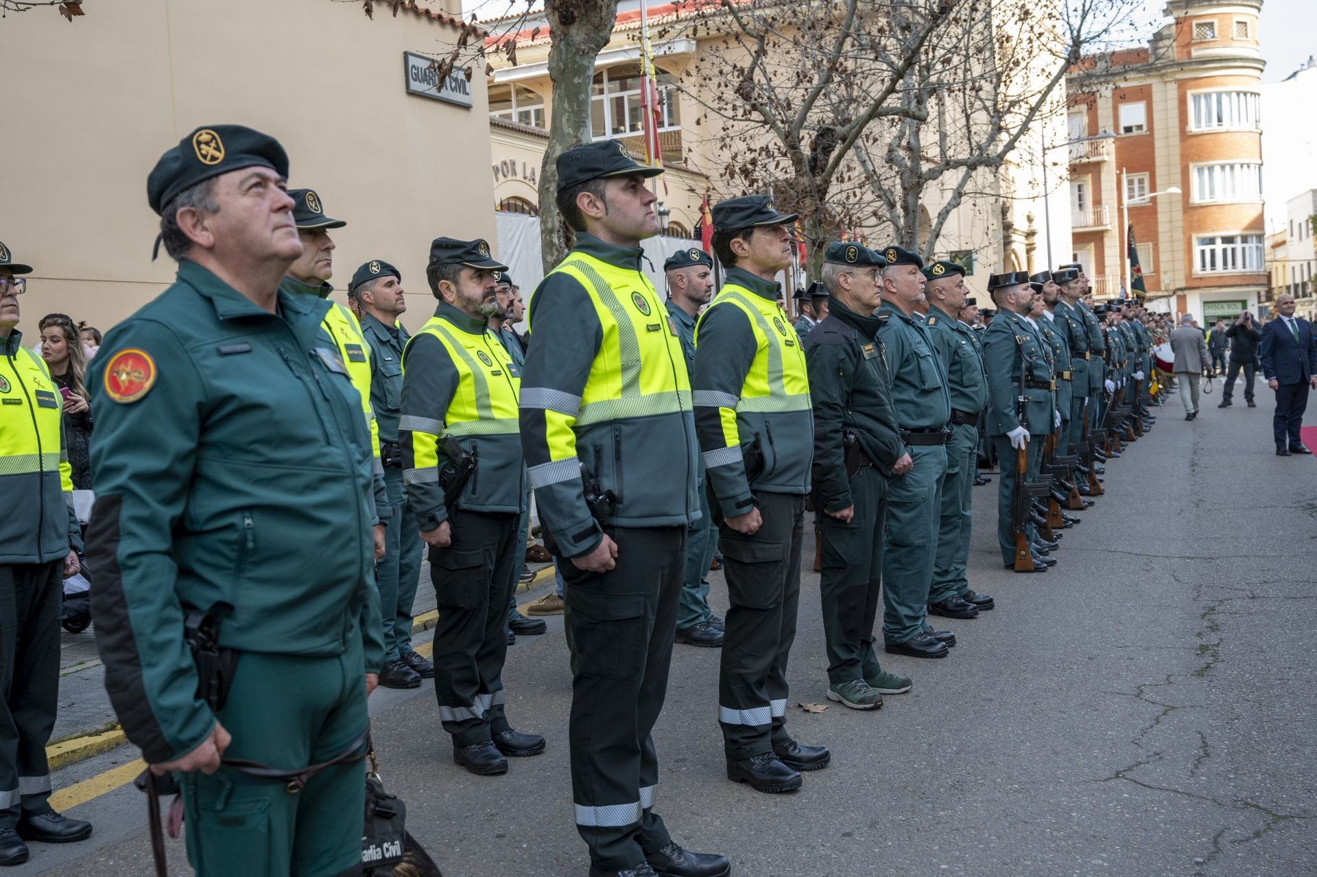
[[[191, 608], [228, 603], [220, 645], [337, 656], [385, 649], [371, 558], [370, 433], [329, 303], [279, 291], [258, 308], [194, 262], [115, 327], [88, 367], [96, 440], [87, 546], [105, 690], [149, 762], [215, 723], [183, 641]], [[116, 402], [125, 352], [148, 390]]]

